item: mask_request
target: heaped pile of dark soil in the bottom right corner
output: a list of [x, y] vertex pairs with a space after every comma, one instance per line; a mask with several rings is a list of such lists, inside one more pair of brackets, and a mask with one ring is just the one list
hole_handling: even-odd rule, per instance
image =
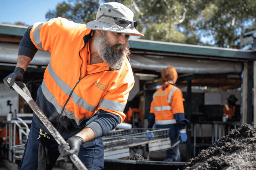
[[184, 170], [256, 169], [256, 129], [242, 124], [191, 159]]

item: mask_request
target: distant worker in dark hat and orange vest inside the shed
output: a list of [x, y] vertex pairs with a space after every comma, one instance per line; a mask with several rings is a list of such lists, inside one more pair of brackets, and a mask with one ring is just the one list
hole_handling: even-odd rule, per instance
[[226, 116], [227, 119], [232, 119], [232, 116], [235, 115], [235, 109], [236, 109], [236, 102], [237, 98], [235, 95], [230, 95], [228, 99], [228, 102], [225, 104], [223, 108], [223, 116]]

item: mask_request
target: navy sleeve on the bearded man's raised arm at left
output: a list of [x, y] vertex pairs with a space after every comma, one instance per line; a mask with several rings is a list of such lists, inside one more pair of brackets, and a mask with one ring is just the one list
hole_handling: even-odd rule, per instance
[[19, 52], [18, 52], [18, 55], [24, 55], [31, 59], [33, 59], [33, 57], [35, 56], [38, 50], [30, 39], [29, 34], [32, 27], [33, 25], [28, 27], [27, 31], [24, 33], [23, 38], [19, 43]]

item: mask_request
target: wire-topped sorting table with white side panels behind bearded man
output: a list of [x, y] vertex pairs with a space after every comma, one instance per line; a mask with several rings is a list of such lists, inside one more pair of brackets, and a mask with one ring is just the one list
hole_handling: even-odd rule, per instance
[[[146, 137], [153, 133], [154, 137]], [[120, 159], [130, 156], [130, 147], [145, 146], [149, 154], [172, 148], [169, 129], [132, 128], [110, 131], [103, 137], [104, 159]]]

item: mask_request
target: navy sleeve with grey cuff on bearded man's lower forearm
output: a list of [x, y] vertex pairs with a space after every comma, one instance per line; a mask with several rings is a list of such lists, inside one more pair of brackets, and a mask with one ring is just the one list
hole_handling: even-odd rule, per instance
[[86, 127], [90, 127], [93, 130], [95, 139], [97, 139], [99, 137], [105, 136], [110, 130], [114, 129], [120, 121], [120, 116], [100, 109], [98, 118]]

